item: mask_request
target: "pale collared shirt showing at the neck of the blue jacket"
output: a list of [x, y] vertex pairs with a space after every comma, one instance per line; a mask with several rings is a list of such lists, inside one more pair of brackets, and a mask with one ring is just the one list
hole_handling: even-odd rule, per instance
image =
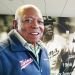
[[34, 47], [32, 44], [28, 43], [15, 29], [14, 29], [14, 33], [15, 33], [15, 36], [20, 40], [22, 45], [28, 50], [30, 50], [31, 52], [33, 52], [33, 54], [37, 58], [37, 62], [39, 63], [38, 53], [40, 52], [40, 49], [43, 47], [42, 42], [41, 41], [38, 42]]

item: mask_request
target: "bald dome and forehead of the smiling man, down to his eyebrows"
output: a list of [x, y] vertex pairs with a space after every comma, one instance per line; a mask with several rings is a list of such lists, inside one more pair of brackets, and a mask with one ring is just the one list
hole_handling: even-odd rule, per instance
[[24, 17], [29, 17], [29, 16], [43, 19], [40, 10], [34, 6], [29, 6], [29, 7], [23, 6], [18, 8], [15, 14], [15, 19], [18, 19], [18, 18], [22, 19]]

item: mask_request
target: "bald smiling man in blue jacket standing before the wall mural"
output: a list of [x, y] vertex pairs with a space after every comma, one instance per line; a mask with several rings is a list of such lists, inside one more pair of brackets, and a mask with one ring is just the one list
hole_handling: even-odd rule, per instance
[[0, 44], [0, 75], [50, 75], [48, 56], [40, 43], [44, 32], [40, 10], [34, 5], [19, 7], [13, 28]]

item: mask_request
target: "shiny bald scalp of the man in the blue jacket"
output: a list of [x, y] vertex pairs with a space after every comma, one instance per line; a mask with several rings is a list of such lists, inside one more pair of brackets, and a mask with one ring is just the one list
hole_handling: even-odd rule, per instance
[[15, 20], [19, 19], [19, 18], [23, 18], [25, 17], [28, 12], [34, 12], [34, 13], [38, 13], [38, 15], [42, 18], [42, 13], [41, 11], [35, 6], [35, 5], [23, 5], [20, 6], [15, 13]]

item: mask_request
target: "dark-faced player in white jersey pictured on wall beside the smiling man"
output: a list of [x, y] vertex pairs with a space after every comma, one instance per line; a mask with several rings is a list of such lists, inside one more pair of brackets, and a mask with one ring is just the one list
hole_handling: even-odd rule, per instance
[[61, 51], [65, 46], [65, 39], [55, 32], [56, 27], [53, 22], [45, 25], [43, 42], [50, 60], [51, 75], [60, 75]]

